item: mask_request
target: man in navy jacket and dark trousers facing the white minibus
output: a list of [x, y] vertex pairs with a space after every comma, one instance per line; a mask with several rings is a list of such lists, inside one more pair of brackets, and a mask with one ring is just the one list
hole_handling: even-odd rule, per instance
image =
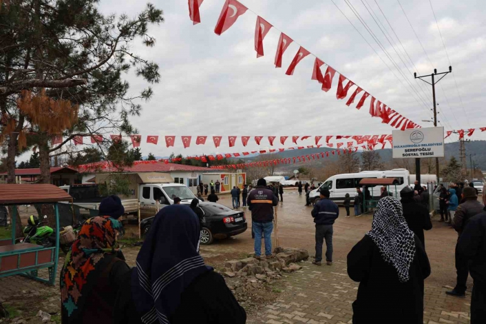
[[314, 205], [311, 213], [315, 223], [315, 265], [321, 265], [324, 239], [327, 265], [332, 265], [332, 224], [339, 216], [339, 207], [330, 201], [329, 196], [329, 190], [322, 189], [321, 200]]

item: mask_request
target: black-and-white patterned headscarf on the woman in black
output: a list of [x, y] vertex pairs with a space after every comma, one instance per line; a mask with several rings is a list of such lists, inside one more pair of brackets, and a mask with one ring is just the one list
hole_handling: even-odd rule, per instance
[[385, 262], [397, 270], [402, 283], [410, 279], [409, 269], [415, 255], [415, 239], [403, 217], [401, 203], [393, 197], [379, 200], [370, 232]]

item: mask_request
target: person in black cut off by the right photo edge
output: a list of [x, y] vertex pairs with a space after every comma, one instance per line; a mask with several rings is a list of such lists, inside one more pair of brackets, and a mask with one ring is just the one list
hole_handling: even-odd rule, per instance
[[458, 256], [468, 260], [474, 286], [471, 296], [471, 324], [486, 323], [486, 208], [467, 222], [457, 245]]

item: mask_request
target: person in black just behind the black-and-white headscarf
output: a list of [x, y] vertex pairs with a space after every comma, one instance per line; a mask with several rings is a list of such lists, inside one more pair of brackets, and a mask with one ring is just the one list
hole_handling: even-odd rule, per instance
[[403, 188], [400, 192], [401, 205], [403, 206], [403, 217], [407, 221], [408, 228], [412, 230], [422, 242], [425, 248], [425, 236], [423, 230], [430, 230], [432, 222], [427, 208], [421, 203], [414, 201], [414, 190], [408, 186]]

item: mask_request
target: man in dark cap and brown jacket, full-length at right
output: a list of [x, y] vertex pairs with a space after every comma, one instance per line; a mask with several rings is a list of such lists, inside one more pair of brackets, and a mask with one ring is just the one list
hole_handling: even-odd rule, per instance
[[[484, 207], [485, 206], [478, 201], [478, 196], [476, 195], [476, 190], [474, 190], [474, 188], [464, 188], [461, 205], [458, 205], [454, 218], [452, 219], [452, 226], [459, 236], [457, 241], [461, 238], [467, 223], [469, 223], [469, 219], [471, 219], [472, 216], [476, 216], [483, 212]], [[450, 292], [445, 293], [450, 296], [464, 297], [467, 289], [467, 276], [469, 275], [468, 261], [458, 254], [458, 244], [456, 244], [455, 253], [457, 271], [456, 287]]]

